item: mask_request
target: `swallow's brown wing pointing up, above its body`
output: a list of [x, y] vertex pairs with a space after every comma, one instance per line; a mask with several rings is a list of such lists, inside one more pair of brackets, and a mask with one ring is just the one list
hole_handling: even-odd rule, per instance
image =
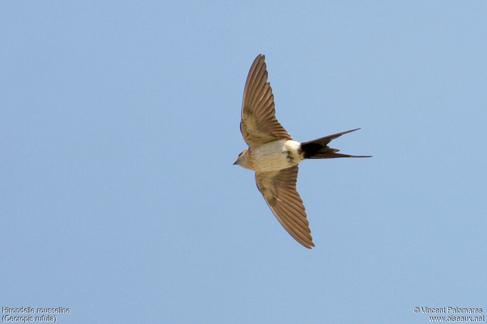
[[240, 131], [250, 148], [280, 139], [292, 140], [276, 119], [264, 59], [265, 56], [259, 54], [252, 63], [243, 91]]

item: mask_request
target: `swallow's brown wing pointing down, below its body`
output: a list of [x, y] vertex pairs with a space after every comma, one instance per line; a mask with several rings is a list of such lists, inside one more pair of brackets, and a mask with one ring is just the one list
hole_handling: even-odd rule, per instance
[[255, 182], [275, 217], [296, 241], [311, 249], [313, 239], [305, 206], [296, 191], [298, 166], [280, 171], [255, 172]]

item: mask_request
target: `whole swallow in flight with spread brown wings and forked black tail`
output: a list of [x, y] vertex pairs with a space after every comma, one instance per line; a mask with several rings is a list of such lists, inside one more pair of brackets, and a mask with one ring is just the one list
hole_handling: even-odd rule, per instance
[[369, 158], [337, 153], [331, 140], [351, 131], [309, 142], [293, 141], [275, 117], [274, 95], [267, 82], [265, 56], [258, 55], [243, 91], [240, 131], [249, 145], [234, 164], [255, 171], [257, 188], [281, 225], [296, 241], [311, 249], [313, 239], [305, 206], [296, 191], [298, 163], [306, 159]]

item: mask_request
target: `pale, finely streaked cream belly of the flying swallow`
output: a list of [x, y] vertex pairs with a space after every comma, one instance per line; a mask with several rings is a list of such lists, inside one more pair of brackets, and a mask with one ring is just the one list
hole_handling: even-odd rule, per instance
[[287, 140], [266, 143], [252, 152], [252, 166], [255, 171], [275, 171], [291, 167], [301, 160], [289, 149]]

